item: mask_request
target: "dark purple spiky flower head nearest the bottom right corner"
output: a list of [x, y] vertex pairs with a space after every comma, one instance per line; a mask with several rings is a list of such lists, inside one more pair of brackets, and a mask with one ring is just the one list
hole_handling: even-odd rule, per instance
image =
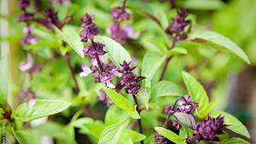
[[194, 136], [198, 141], [212, 141], [215, 135], [222, 134], [224, 130], [224, 117], [218, 116], [201, 120], [195, 125]]

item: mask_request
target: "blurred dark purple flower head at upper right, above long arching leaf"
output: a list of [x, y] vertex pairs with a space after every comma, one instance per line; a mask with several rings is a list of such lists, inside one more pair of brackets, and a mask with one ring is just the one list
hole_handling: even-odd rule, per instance
[[171, 35], [173, 42], [188, 37], [188, 32], [185, 31], [185, 27], [191, 25], [191, 20], [185, 20], [187, 16], [188, 12], [186, 9], [178, 9], [177, 18], [173, 19], [172, 24], [166, 28], [166, 33]]

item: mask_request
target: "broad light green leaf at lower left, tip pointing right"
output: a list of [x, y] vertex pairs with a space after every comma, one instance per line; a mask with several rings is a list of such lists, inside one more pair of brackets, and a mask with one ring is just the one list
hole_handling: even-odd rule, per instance
[[22, 122], [30, 122], [37, 118], [62, 112], [70, 105], [69, 102], [60, 100], [37, 100], [33, 104], [25, 102], [17, 107], [14, 117]]

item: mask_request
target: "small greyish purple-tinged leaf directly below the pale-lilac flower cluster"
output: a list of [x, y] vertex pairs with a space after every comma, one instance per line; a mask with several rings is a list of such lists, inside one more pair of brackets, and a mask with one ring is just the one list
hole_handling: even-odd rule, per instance
[[181, 124], [184, 124], [190, 128], [195, 127], [195, 118], [191, 114], [184, 112], [175, 112], [174, 117], [177, 118], [177, 121]]

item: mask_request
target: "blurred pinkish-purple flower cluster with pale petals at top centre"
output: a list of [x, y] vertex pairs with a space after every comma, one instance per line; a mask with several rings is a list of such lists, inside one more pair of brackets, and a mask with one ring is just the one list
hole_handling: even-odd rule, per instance
[[[125, 3], [124, 3], [125, 4]], [[106, 31], [115, 41], [119, 43], [125, 43], [127, 38], [136, 38], [137, 34], [133, 31], [133, 28], [129, 25], [121, 26], [120, 23], [123, 20], [130, 20], [131, 14], [125, 11], [125, 6], [122, 8], [113, 8], [110, 10], [114, 23], [109, 26]]]

